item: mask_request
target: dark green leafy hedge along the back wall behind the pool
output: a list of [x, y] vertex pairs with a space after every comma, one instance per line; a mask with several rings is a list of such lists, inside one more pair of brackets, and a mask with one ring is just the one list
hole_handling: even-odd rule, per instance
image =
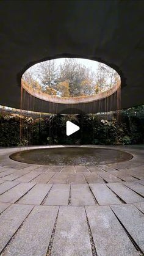
[[[66, 135], [66, 122], [79, 125], [81, 129]], [[143, 142], [143, 125], [138, 117], [123, 115], [121, 122], [98, 120], [98, 115], [48, 115], [32, 119], [20, 115], [0, 115], [0, 146], [47, 145], [47, 144], [140, 144]]]

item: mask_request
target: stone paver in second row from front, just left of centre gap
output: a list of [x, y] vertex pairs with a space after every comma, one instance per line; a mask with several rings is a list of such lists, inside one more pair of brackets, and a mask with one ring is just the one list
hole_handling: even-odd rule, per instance
[[54, 184], [44, 205], [68, 205], [70, 185]]

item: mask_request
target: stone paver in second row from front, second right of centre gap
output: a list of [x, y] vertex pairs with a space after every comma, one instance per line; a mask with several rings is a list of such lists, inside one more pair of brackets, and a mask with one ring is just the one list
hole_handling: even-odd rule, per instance
[[90, 184], [90, 188], [99, 205], [117, 205], [121, 201], [105, 184]]

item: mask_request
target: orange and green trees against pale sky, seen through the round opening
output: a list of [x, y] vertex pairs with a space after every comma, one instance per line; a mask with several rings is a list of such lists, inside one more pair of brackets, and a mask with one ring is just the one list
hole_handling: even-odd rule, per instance
[[96, 95], [112, 88], [118, 79], [118, 73], [107, 65], [99, 63], [94, 72], [71, 58], [60, 64], [56, 60], [41, 62], [23, 75], [23, 80], [37, 92], [62, 98]]

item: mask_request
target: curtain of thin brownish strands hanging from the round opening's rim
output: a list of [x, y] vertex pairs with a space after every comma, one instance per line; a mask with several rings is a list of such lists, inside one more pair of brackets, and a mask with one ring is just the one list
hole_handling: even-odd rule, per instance
[[[26, 90], [23, 89], [23, 86], [21, 85], [21, 119], [20, 119], [20, 145], [23, 142], [23, 139], [26, 138], [27, 141], [29, 141], [30, 138], [30, 131], [27, 129], [24, 131], [23, 126], [24, 126], [24, 119], [22, 118], [23, 116], [23, 109], [29, 110], [30, 113], [31, 111], [35, 111], [35, 106], [38, 106], [39, 112], [45, 112], [46, 108], [46, 101], [39, 100], [37, 101], [37, 98], [33, 97], [29, 93], [26, 92]], [[62, 112], [59, 111], [59, 104], [56, 103], [48, 103], [49, 104], [49, 113], [54, 113], [54, 114], [59, 114]], [[92, 101], [91, 103], [77, 103], [77, 104], [67, 104], [67, 109], [64, 109], [64, 114], [65, 111], [68, 114], [73, 114], [73, 110], [75, 110], [75, 114], [95, 114], [95, 113], [101, 113], [103, 112], [103, 119], [107, 119], [107, 112], [115, 110], [117, 112], [117, 122], [120, 122], [120, 109], [121, 109], [121, 88], [119, 87], [118, 90], [110, 95], [109, 97], [103, 98], [101, 100], [97, 101]], [[79, 111], [81, 109], [81, 111]], [[29, 115], [32, 117], [32, 115]], [[39, 115], [39, 129], [41, 129], [41, 114]], [[51, 136], [52, 136], [52, 129], [53, 129], [53, 119], [49, 121], [49, 137], [50, 137], [50, 144], [52, 143]], [[93, 120], [92, 123], [93, 126], [95, 126], [95, 120]], [[28, 126], [28, 125], [27, 125]], [[84, 128], [83, 128], [84, 129]], [[33, 133], [33, 132], [32, 132]], [[40, 136], [40, 133], [39, 133]], [[94, 137], [93, 137], [94, 139]], [[40, 142], [40, 140], [39, 140]], [[29, 141], [29, 145], [32, 145], [32, 137], [31, 141]], [[27, 147], [26, 147], [27, 148]]]

